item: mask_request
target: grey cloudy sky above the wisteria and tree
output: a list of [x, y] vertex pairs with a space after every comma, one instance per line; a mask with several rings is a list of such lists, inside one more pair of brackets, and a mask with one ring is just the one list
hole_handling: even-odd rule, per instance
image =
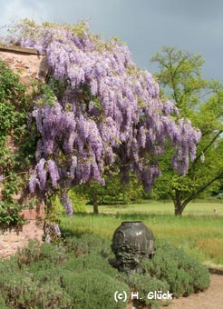
[[93, 33], [119, 36], [141, 68], [162, 45], [204, 57], [203, 76], [223, 81], [222, 0], [0, 0], [0, 34], [28, 17], [35, 22], [89, 22]]

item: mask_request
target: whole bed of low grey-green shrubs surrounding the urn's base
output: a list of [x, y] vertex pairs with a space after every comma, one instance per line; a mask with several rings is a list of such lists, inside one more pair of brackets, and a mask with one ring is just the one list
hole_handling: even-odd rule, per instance
[[[152, 260], [141, 262], [141, 274], [127, 275], [109, 264], [110, 243], [82, 234], [60, 245], [30, 242], [14, 257], [0, 260], [0, 308], [121, 309], [114, 293], [139, 292], [142, 304], [159, 307], [148, 293], [170, 291], [174, 296], [208, 287], [208, 270], [183, 250], [157, 243]], [[5, 280], [5, 278], [7, 278]]]

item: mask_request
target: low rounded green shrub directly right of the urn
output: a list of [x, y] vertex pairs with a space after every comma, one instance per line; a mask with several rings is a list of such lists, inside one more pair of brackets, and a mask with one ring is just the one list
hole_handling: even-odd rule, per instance
[[181, 248], [158, 243], [152, 260], [141, 263], [145, 273], [170, 284], [170, 293], [179, 297], [208, 288], [209, 274], [202, 264]]

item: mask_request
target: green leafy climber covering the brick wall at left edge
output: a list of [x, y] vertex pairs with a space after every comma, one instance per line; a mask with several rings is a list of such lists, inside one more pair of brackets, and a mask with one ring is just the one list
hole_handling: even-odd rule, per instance
[[27, 128], [30, 96], [3, 61], [0, 61], [0, 175], [2, 178], [0, 228], [24, 224], [22, 207], [15, 195], [22, 193], [27, 181], [27, 165], [34, 159], [36, 133]]

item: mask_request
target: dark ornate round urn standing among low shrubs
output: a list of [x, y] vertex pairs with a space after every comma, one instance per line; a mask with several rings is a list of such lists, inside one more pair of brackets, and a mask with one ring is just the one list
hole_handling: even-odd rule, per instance
[[112, 237], [111, 250], [115, 254], [114, 266], [120, 271], [131, 272], [140, 268], [143, 258], [152, 258], [155, 238], [141, 221], [122, 222]]

